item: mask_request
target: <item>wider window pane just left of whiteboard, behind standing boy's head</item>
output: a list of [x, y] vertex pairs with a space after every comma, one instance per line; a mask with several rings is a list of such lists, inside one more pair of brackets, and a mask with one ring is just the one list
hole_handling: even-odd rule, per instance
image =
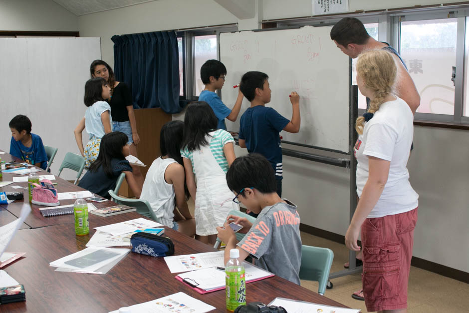
[[217, 59], [217, 35], [194, 36], [194, 81], [195, 96], [199, 96], [204, 90], [204, 84], [200, 78], [200, 68], [205, 61]]

